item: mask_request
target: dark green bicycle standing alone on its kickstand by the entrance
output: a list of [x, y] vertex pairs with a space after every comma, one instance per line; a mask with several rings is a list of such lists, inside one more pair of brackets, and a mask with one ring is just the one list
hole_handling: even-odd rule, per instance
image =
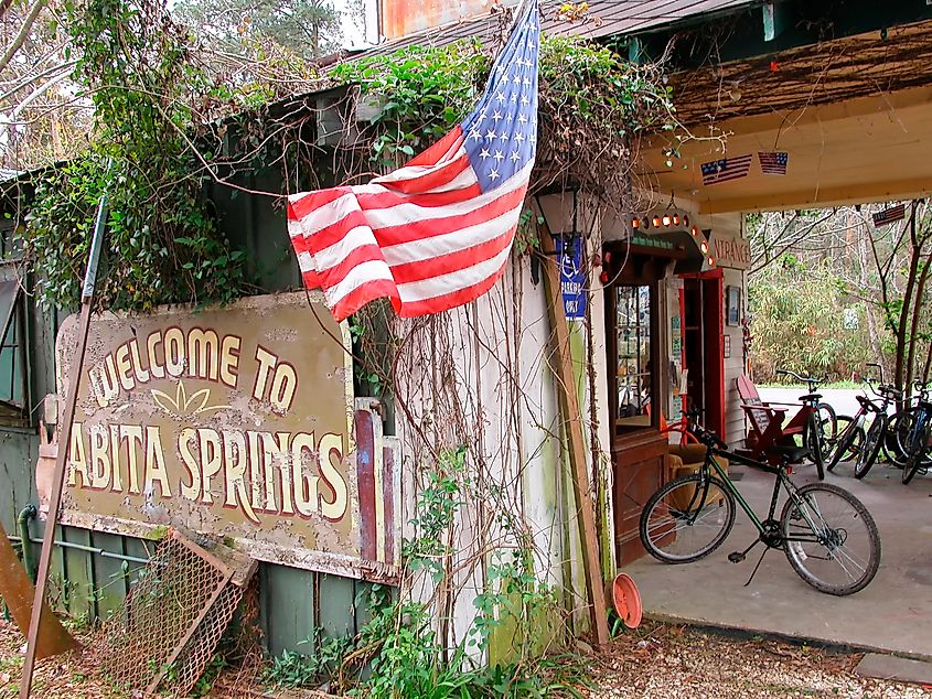
[[[770, 549], [782, 549], [796, 574], [819, 592], [854, 594], [874, 580], [880, 566], [880, 535], [867, 508], [836, 485], [811, 483], [797, 487], [790, 480], [790, 463], [802, 459], [807, 448], [774, 447], [782, 460], [771, 465], [730, 451], [715, 433], [698, 424], [692, 429], [706, 447], [701, 470], [662, 486], [641, 513], [639, 534], [651, 556], [665, 563], [689, 563], [708, 556], [731, 533], [737, 503], [758, 530], [758, 538], [743, 551], [729, 553], [728, 560], [739, 563], [758, 544], [765, 547], [746, 585]], [[775, 476], [764, 519], [741, 496], [716, 456]], [[780, 519], [775, 519], [781, 491], [788, 499]]]

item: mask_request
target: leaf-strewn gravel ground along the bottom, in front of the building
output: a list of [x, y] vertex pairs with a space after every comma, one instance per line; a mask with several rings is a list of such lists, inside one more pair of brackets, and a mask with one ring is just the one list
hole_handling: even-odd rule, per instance
[[[93, 645], [90, 634], [78, 635], [85, 645]], [[19, 696], [23, 650], [23, 636], [0, 620], [0, 699]], [[590, 699], [932, 698], [932, 687], [858, 677], [854, 668], [859, 660], [859, 654], [649, 622], [621, 635], [607, 653], [586, 658], [592, 689], [583, 693]], [[210, 696], [243, 699], [264, 693], [236, 681], [231, 673], [222, 684], [236, 689]], [[33, 696], [41, 699], [128, 699], [101, 679], [93, 649], [41, 660], [33, 687]]]

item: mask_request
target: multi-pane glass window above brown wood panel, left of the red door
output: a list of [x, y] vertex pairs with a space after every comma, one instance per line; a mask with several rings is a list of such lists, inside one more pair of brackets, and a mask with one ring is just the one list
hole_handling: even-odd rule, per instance
[[618, 350], [618, 426], [649, 427], [654, 374], [651, 366], [652, 288], [615, 287], [615, 343]]

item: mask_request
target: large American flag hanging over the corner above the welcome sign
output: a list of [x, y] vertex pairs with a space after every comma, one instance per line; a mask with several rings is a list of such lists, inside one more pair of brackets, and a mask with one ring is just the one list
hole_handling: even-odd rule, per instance
[[489, 291], [504, 271], [537, 144], [537, 0], [492, 66], [475, 110], [403, 168], [365, 185], [289, 197], [308, 288], [336, 320], [388, 297], [403, 316]]

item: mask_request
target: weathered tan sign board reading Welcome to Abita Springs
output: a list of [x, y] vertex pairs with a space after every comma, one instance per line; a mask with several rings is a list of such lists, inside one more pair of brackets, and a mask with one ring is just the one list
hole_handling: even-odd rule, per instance
[[[58, 333], [60, 372], [76, 329], [71, 316]], [[372, 401], [354, 405], [347, 347], [303, 293], [99, 314], [63, 520], [131, 536], [178, 524], [260, 560], [390, 582], [400, 459]]]

